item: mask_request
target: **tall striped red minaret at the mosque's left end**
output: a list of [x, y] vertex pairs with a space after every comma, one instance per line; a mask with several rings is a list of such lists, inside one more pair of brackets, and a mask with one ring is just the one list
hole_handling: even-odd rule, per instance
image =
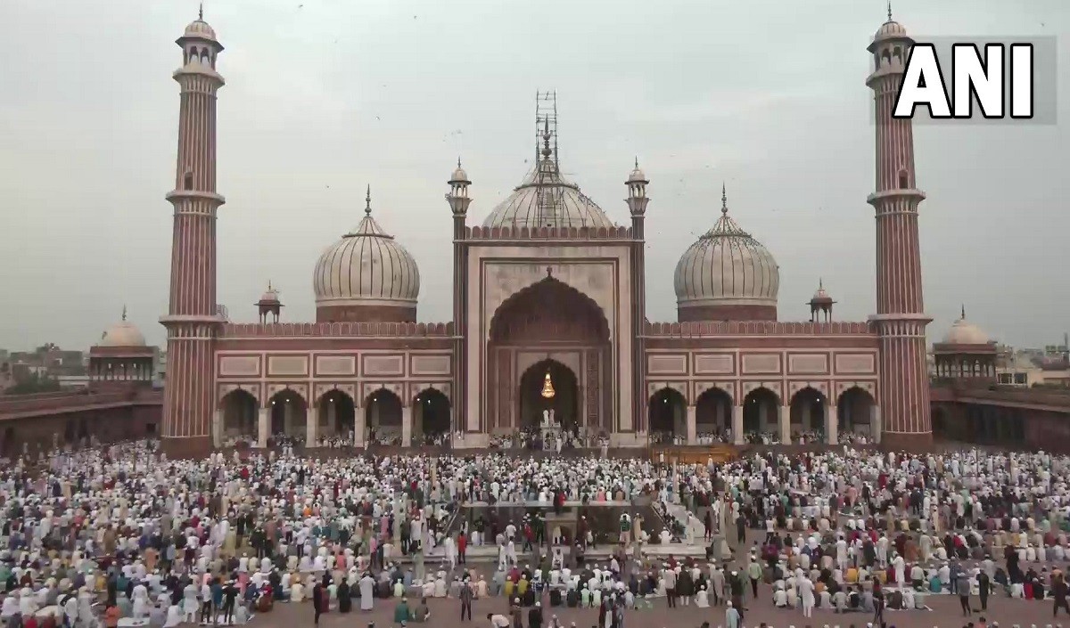
[[179, 155], [171, 235], [167, 381], [163, 444], [172, 456], [198, 456], [212, 446], [216, 330], [223, 318], [215, 301], [215, 215], [224, 198], [215, 191], [215, 95], [224, 81], [216, 72], [223, 46], [203, 13], [175, 42], [182, 67], [173, 77], [181, 90]]

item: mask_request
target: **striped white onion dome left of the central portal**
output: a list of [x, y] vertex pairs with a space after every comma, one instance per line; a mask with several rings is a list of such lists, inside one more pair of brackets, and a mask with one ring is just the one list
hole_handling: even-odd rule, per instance
[[361, 223], [316, 263], [316, 318], [414, 321], [419, 296], [416, 261], [371, 217], [370, 186], [366, 203]]

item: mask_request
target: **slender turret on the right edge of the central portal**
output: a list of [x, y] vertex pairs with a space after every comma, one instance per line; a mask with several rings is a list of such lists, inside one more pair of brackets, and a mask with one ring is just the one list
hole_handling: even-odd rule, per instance
[[642, 366], [646, 363], [644, 357], [645, 346], [643, 333], [646, 323], [646, 241], [643, 234], [643, 221], [646, 216], [646, 204], [651, 200], [646, 197], [646, 186], [651, 183], [646, 174], [639, 168], [639, 158], [636, 158], [636, 168], [628, 175], [628, 180], [624, 182], [628, 186], [628, 210], [631, 213], [631, 289], [635, 299], [631, 302], [631, 373], [633, 398], [631, 401], [631, 415], [636, 418], [636, 431], [645, 433], [648, 429], [646, 422], [649, 412], [646, 408], [646, 383], [644, 376], [646, 370]]

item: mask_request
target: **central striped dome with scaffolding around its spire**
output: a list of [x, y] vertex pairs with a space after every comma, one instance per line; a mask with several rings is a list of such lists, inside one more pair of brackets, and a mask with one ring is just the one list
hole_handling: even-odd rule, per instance
[[538, 163], [523, 183], [491, 210], [483, 221], [484, 226], [616, 226], [579, 186], [561, 174], [555, 151], [550, 147], [551, 137], [547, 123]]

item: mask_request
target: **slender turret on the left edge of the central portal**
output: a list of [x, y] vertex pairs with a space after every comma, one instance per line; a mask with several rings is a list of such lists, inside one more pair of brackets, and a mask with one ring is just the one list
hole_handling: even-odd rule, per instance
[[468, 248], [464, 242], [468, 208], [472, 203], [468, 173], [457, 158], [457, 170], [449, 176], [446, 202], [454, 215], [454, 403], [453, 429], [468, 431]]

